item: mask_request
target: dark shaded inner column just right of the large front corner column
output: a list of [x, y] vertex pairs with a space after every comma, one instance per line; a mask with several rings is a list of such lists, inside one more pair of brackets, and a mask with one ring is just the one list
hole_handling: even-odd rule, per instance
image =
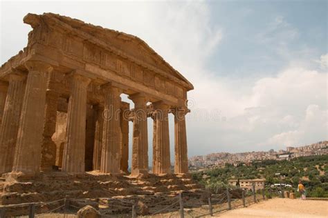
[[51, 137], [53, 137], [56, 131], [59, 93], [57, 93], [56, 90], [49, 89], [49, 83], [53, 82], [52, 77], [54, 76], [54, 72], [52, 72], [48, 78], [48, 90], [46, 92], [46, 109], [40, 166], [40, 170], [42, 171], [51, 171], [53, 170], [53, 166], [56, 165], [57, 146]]

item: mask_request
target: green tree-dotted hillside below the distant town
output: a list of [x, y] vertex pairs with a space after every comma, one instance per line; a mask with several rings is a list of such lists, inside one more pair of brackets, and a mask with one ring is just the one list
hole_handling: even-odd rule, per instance
[[207, 188], [228, 186], [229, 179], [266, 179], [266, 187], [272, 184], [290, 184], [295, 190], [299, 179], [303, 181], [311, 197], [328, 197], [328, 155], [298, 157], [290, 161], [264, 160], [233, 166], [204, 169], [193, 172]]

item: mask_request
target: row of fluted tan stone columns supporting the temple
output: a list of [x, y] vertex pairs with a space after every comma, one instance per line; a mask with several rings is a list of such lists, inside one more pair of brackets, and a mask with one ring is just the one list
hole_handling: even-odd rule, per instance
[[[24, 172], [35, 175], [49, 170], [55, 161], [55, 144], [51, 136], [55, 132], [55, 117], [59, 94], [48, 89], [53, 68], [40, 61], [26, 63], [28, 75], [12, 73], [0, 128], [0, 174]], [[48, 81], [48, 83], [47, 83]], [[73, 73], [69, 98], [62, 170], [84, 172], [86, 135], [86, 92], [91, 79]], [[122, 117], [120, 94], [122, 90], [102, 86], [104, 107], [97, 108], [93, 169], [103, 173], [127, 172], [128, 120]], [[131, 173], [148, 172], [147, 98], [130, 95], [134, 101], [134, 130]], [[0, 99], [1, 100], [1, 99]], [[170, 140], [168, 112], [170, 106], [154, 103], [154, 173], [170, 172]], [[124, 108], [123, 108], [124, 110]], [[185, 112], [174, 113], [175, 166], [174, 172], [188, 172]], [[124, 157], [123, 157], [124, 156]]]

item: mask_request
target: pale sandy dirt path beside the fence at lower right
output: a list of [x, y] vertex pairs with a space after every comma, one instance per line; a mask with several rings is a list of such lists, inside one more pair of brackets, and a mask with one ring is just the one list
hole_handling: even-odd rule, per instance
[[328, 201], [301, 201], [300, 199], [270, 199], [253, 204], [247, 208], [239, 208], [223, 212], [216, 217], [248, 218], [248, 217], [328, 217]]

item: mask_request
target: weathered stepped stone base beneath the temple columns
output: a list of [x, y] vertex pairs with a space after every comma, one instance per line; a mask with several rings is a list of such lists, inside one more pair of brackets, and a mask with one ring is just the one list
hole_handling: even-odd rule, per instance
[[[41, 173], [37, 177], [22, 174], [5, 174], [0, 181], [0, 204], [21, 204], [37, 201], [54, 201], [64, 197], [94, 199], [128, 195], [155, 195], [181, 190], [199, 190], [190, 175], [100, 175], [99, 172], [69, 174], [65, 172]], [[2, 180], [5, 180], [2, 178]]]

